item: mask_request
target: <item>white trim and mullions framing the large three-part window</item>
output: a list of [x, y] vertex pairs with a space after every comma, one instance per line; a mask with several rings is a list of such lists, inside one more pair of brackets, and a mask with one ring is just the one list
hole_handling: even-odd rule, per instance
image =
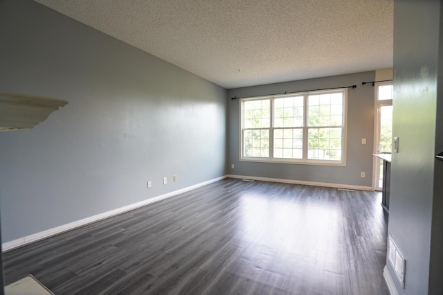
[[[314, 160], [307, 159], [307, 132], [303, 132], [303, 159], [281, 159], [281, 158], [273, 158], [273, 99], [274, 98], [284, 98], [291, 96], [305, 96], [305, 109], [307, 108], [307, 96], [321, 94], [321, 93], [332, 93], [332, 92], [341, 92], [343, 91], [343, 129], [342, 129], [342, 161], [334, 161], [334, 160]], [[243, 157], [243, 107], [242, 103], [246, 100], [263, 100], [271, 98], [271, 130], [269, 132], [269, 157]], [[302, 128], [307, 130], [307, 116], [305, 110], [305, 126]], [[264, 128], [267, 129], [267, 128]], [[305, 148], [306, 147], [306, 148]], [[334, 90], [325, 90], [325, 91], [306, 91], [300, 93], [290, 93], [285, 95], [275, 95], [275, 96], [255, 96], [251, 98], [242, 98], [239, 99], [239, 161], [244, 162], [257, 162], [257, 163], [287, 163], [287, 164], [297, 164], [297, 165], [316, 165], [316, 166], [346, 166], [347, 159], [347, 88], [343, 89], [334, 89]]]

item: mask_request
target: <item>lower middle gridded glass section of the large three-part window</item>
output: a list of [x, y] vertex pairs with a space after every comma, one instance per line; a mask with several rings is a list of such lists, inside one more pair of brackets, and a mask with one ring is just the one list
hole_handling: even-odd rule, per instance
[[274, 129], [274, 158], [302, 159], [303, 129]]

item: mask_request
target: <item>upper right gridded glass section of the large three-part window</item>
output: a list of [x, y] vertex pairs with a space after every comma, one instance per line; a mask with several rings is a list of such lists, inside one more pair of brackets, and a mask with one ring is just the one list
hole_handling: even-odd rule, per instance
[[343, 92], [308, 96], [308, 125], [343, 125]]

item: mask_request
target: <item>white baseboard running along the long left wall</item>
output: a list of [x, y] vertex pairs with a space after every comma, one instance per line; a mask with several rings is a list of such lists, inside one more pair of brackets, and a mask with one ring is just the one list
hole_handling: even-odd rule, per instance
[[77, 220], [77, 221], [71, 222], [69, 224], [63, 224], [61, 226], [54, 227], [53, 229], [48, 229], [46, 231], [40, 231], [39, 233], [34, 233], [32, 235], [26, 235], [23, 238], [19, 238], [17, 240], [12, 240], [10, 242], [5, 242], [5, 243], [1, 244], [1, 249], [3, 252], [9, 251], [9, 250], [15, 249], [17, 247], [24, 246], [25, 244], [30, 244], [32, 242], [37, 242], [39, 240], [43, 240], [43, 239], [52, 237], [53, 235], [58, 235], [60, 233], [64, 233], [65, 231], [71, 231], [71, 230], [76, 229], [80, 226], [91, 224], [93, 222], [98, 222], [100, 220], [104, 220], [106, 218], [113, 217], [113, 216], [119, 215], [121, 213], [125, 213], [127, 211], [132, 211], [136, 208], [140, 208], [140, 207], [143, 207], [143, 206], [155, 203], [155, 202], [159, 202], [163, 199], [168, 199], [169, 197], [174, 197], [174, 196], [180, 195], [182, 193], [187, 193], [190, 190], [195, 190], [196, 188], [200, 188], [201, 186], [206, 186], [208, 184], [212, 184], [213, 182], [219, 181], [221, 179], [225, 179], [226, 177], [227, 177], [226, 175], [222, 176], [222, 177], [217, 177], [215, 179], [201, 182], [200, 184], [195, 184], [194, 186], [188, 186], [187, 188], [182, 188], [180, 190], [174, 190], [173, 192], [167, 193], [165, 195], [159, 195], [157, 197], [145, 199], [141, 202], [137, 202], [137, 203], [130, 204], [127, 206], [123, 206], [120, 208], [116, 208], [114, 210], [100, 213], [98, 215], [93, 215], [91, 217], [87, 217], [82, 220]]

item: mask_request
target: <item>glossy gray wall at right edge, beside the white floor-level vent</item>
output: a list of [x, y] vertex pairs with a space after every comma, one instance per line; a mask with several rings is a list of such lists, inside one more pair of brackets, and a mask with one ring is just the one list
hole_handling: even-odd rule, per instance
[[395, 1], [393, 136], [399, 136], [399, 153], [392, 154], [388, 233], [406, 258], [405, 289], [389, 264], [388, 270], [399, 294], [443, 294], [443, 163], [434, 159], [435, 149], [443, 150], [440, 6], [437, 0]]

